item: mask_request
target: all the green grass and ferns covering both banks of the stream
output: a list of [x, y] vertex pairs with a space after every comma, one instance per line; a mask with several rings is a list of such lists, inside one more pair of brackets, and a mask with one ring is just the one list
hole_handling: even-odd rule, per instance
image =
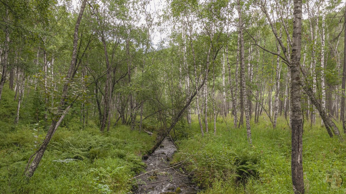
[[[0, 193], [131, 192], [130, 178], [145, 167], [140, 155], [152, 147], [155, 136], [123, 125], [101, 134], [92, 119], [83, 128], [79, 118], [70, 115], [53, 136], [34, 176], [27, 180], [24, 168], [46, 130], [43, 122], [35, 121], [34, 113], [42, 117], [42, 108], [37, 108], [40, 101], [33, 96], [24, 99], [19, 125], [13, 124], [17, 107], [13, 96], [5, 87], [0, 101]], [[232, 128], [232, 118], [226, 120], [228, 128], [218, 118], [216, 135], [209, 121], [210, 131], [203, 138], [195, 117], [191, 127], [180, 121], [172, 131], [179, 147], [172, 162], [188, 158], [184, 170], [193, 171], [193, 181], [202, 188], [200, 193], [293, 193], [291, 134], [286, 120], [280, 117], [276, 129], [268, 118], [268, 122], [263, 117], [259, 124], [251, 122], [253, 147], [247, 143], [246, 129]], [[320, 122], [317, 119], [312, 127], [310, 122], [304, 123], [306, 191], [345, 193], [345, 184], [333, 190], [325, 177], [332, 169], [346, 177], [346, 145], [329, 138]], [[150, 123], [145, 125], [147, 130], [155, 130]]]

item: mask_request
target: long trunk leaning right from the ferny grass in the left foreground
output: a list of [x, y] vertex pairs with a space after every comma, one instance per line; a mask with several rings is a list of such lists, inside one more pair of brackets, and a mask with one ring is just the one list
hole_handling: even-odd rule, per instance
[[[67, 75], [65, 77], [66, 81], [65, 81], [65, 84], [63, 86], [63, 92], [62, 92], [60, 104], [58, 106], [58, 112], [60, 112], [60, 114], [57, 114], [53, 117], [51, 126], [48, 129], [47, 135], [46, 135], [42, 145], [38, 148], [38, 150], [33, 155], [30, 156], [28, 164], [27, 164], [26, 169], [25, 169], [25, 175], [28, 178], [30, 178], [31, 176], [34, 175], [34, 172], [36, 171], [36, 168], [37, 168], [39, 162], [41, 161], [43, 154], [46, 151], [46, 148], [47, 148], [51, 138], [53, 137], [56, 129], [58, 128], [58, 126], [60, 125], [62, 120], [64, 119], [67, 111], [71, 107], [71, 105], [66, 107], [65, 99], [67, 98], [67, 91], [68, 91], [69, 85], [71, 84], [71, 81], [73, 79], [73, 70], [75, 67], [76, 56], [77, 56], [78, 29], [79, 29], [80, 22], [82, 20], [85, 5], [86, 5], [86, 0], [83, 0], [83, 2], [81, 4], [81, 10], [79, 12], [79, 15], [78, 15], [78, 18], [76, 21], [76, 26], [74, 28], [72, 60], [71, 60], [69, 71], [67, 72]], [[35, 158], [31, 162], [31, 158], [33, 156], [35, 156]], [[30, 162], [31, 162], [31, 164], [30, 164]], [[29, 165], [30, 165], [30, 167], [29, 167]]]

